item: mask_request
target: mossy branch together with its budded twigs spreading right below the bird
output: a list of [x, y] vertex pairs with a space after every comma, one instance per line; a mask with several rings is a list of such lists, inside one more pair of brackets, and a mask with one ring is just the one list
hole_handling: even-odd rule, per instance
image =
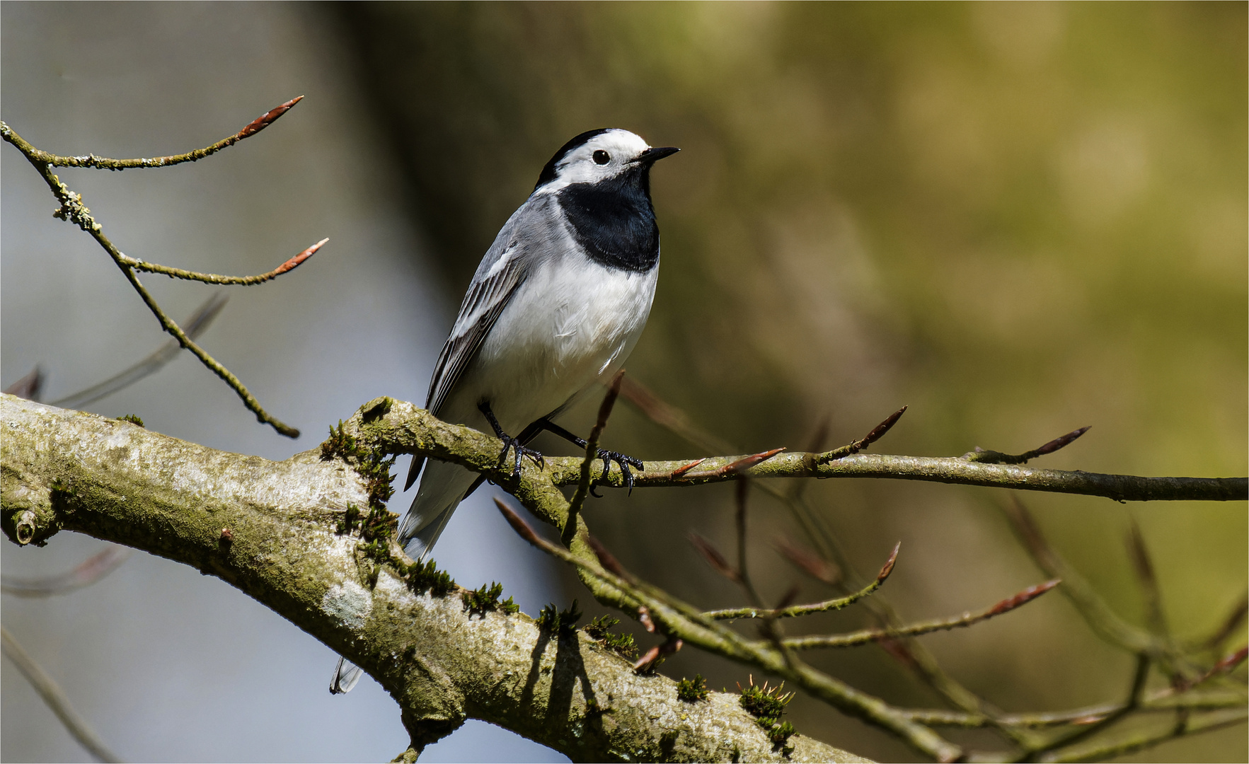
[[[600, 411], [591, 442], [606, 424], [618, 378]], [[899, 412], [901, 413], [901, 412]], [[697, 486], [743, 478], [897, 478], [1054, 491], [1115, 498], [1243, 501], [1245, 478], [1145, 478], [1047, 471], [995, 452], [959, 458], [858, 454], [897, 421], [894, 414], [863, 441], [823, 453], [784, 454], [773, 449], [742, 457], [693, 462], [647, 462], [636, 484]], [[777, 619], [836, 609], [871, 594], [893, 568], [891, 558], [876, 582], [842, 599], [778, 609], [701, 612], [642, 582], [595, 539], [580, 508], [592, 481], [587, 457], [525, 461], [518, 474], [501, 464], [497, 438], [447, 424], [427, 411], [391, 398], [362, 406], [331, 428], [320, 448], [271, 462], [215, 451], [147, 432], [140, 424], [0, 397], [0, 521], [20, 546], [42, 544], [59, 531], [76, 531], [194, 566], [221, 578], [356, 663], [391, 693], [402, 709], [412, 759], [428, 743], [467, 718], [483, 719], [550, 745], [577, 760], [859, 760], [856, 755], [796, 734], [779, 720], [781, 709], [761, 712], [746, 693], [698, 697], [654, 675], [657, 658], [688, 644], [779, 677], [812, 697], [873, 724], [916, 752], [942, 762], [974, 752], [945, 739], [940, 725], [993, 727], [1013, 752], [993, 759], [1085, 759], [1073, 745], [1150, 704], [1174, 699], [1184, 713], [1215, 708], [1194, 724], [1153, 734], [1148, 745], [1182, 734], [1217, 729], [1244, 719], [1243, 690], [1212, 699], [1193, 688], [1240, 665], [1247, 648], [1214, 667], [1194, 664], [1190, 650], [1123, 623], [1087, 582], [1048, 548], [1020, 507], [1015, 524], [1052, 580], [1030, 587], [983, 612], [917, 624], [889, 624], [832, 637], [786, 638]], [[1064, 436], [1039, 449], [1052, 451], [1078, 437]], [[1057, 446], [1055, 446], [1057, 443]], [[561, 544], [541, 538], [507, 503], [500, 508], [532, 544], [577, 568], [602, 604], [639, 619], [664, 640], [636, 663], [576, 628], [536, 622], [515, 605], [438, 579], [395, 541], [391, 496], [392, 454], [415, 453], [462, 464], [495, 481], [536, 518], [560, 532]], [[593, 446], [587, 454], [593, 453]], [[1029, 452], [1032, 453], [1032, 452]], [[618, 466], [593, 482], [622, 486]], [[744, 486], [744, 483], [743, 483]], [[565, 491], [576, 487], [572, 498]], [[744, 498], [744, 492], [739, 492]], [[744, 504], [742, 506], [744, 508]], [[746, 588], [744, 566], [733, 568], [708, 548], [717, 569]], [[894, 556], [897, 549], [894, 551]], [[1142, 554], [1144, 552], [1142, 551]], [[1138, 658], [1132, 692], [1110, 712], [1024, 714], [992, 709], [960, 689], [908, 637], [967, 627], [1027, 604], [1059, 584], [1059, 590], [1099, 634]], [[441, 584], [438, 583], [441, 580]], [[485, 602], [485, 604], [482, 604]], [[1240, 610], [1234, 617], [1239, 623]], [[762, 620], [751, 639], [722, 624], [724, 618]], [[922, 672], [948, 690], [962, 713], [891, 705], [816, 670], [799, 653], [884, 640], [906, 650]], [[1192, 664], [1192, 665], [1190, 665]], [[1173, 677], [1169, 690], [1145, 692], [1150, 667]], [[928, 675], [926, 674], [926, 675]], [[749, 689], [749, 688], [748, 688]], [[753, 692], [753, 690], [752, 690]], [[693, 697], [691, 697], [693, 695]], [[1155, 697], [1157, 695], [1157, 697]], [[777, 695], [773, 694], [773, 699]], [[781, 707], [783, 708], [783, 705]], [[1178, 705], [1177, 709], [1180, 707]], [[1083, 715], [1082, 715], [1083, 714]], [[1042, 718], [1045, 717], [1045, 718]], [[1035, 737], [1029, 729], [1067, 725]], [[1074, 727], [1073, 727], [1074, 725]], [[1094, 758], [1135, 750], [1134, 739], [1100, 743]]]

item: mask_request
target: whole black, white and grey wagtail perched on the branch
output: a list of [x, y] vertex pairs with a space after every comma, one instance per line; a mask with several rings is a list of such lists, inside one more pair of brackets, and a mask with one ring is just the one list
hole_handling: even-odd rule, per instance
[[[438, 353], [425, 407], [445, 422], [488, 426], [513, 452], [512, 474], [546, 429], [586, 447], [551, 419], [600, 380], [611, 378], [637, 343], [659, 271], [659, 227], [651, 166], [677, 149], [652, 149], [627, 130], [582, 132], [538, 175], [533, 193], [503, 223], [481, 258], [451, 335]], [[642, 462], [617, 462], [627, 486]], [[400, 523], [400, 542], [422, 559], [451, 513], [485, 479], [450, 462], [412, 458], [405, 489], [421, 486]], [[330, 692], [345, 693], [360, 669], [340, 659]]]

